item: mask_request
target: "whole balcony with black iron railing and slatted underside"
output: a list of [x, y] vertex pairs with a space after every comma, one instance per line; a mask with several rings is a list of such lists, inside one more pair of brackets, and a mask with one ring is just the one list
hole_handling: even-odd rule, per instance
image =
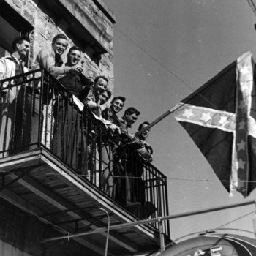
[[[107, 227], [105, 211], [110, 226], [168, 215], [166, 177], [134, 149], [119, 146], [105, 124], [45, 70], [1, 80], [0, 97], [4, 200], [60, 236]], [[160, 233], [170, 243], [169, 222], [161, 229], [151, 222], [110, 230], [108, 255], [159, 249]], [[91, 255], [104, 255], [106, 236], [72, 239]]]

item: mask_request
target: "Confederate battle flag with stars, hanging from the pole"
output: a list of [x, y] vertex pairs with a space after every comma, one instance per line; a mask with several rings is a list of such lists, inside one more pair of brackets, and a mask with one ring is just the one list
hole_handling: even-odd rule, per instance
[[244, 197], [256, 187], [254, 69], [244, 53], [172, 109], [227, 191]]

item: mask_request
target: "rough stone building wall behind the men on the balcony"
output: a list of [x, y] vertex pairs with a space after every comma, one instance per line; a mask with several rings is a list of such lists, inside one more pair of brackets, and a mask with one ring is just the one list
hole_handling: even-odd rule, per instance
[[[105, 53], [98, 54], [99, 61], [89, 61], [84, 57], [84, 74], [89, 77], [105, 75], [110, 79], [110, 89], [113, 91], [113, 23], [115, 17], [107, 10], [102, 1], [96, 0], [4, 0], [23, 18], [25, 18], [34, 29], [29, 33], [31, 39], [31, 51], [29, 66], [34, 62], [35, 56], [40, 48], [51, 45], [56, 34], [64, 33], [69, 38], [69, 47], [78, 45], [86, 56], [90, 56], [94, 42], [86, 43], [83, 37], [69, 34], [70, 20], [80, 23], [82, 29], [87, 30], [99, 45], [104, 48]], [[54, 4], [53, 4], [54, 3]], [[69, 13], [69, 17], [57, 17], [59, 7]], [[63, 14], [65, 14], [63, 12]], [[106, 15], [107, 14], [107, 15]], [[86, 32], [85, 32], [86, 34]], [[67, 52], [66, 52], [67, 53]], [[66, 56], [64, 53], [64, 57]]]

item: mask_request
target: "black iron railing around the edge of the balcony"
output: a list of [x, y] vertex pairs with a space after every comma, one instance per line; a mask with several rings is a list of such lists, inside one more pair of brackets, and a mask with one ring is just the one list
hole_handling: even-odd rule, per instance
[[[169, 214], [166, 177], [81, 110], [56, 78], [38, 69], [0, 85], [0, 157], [45, 148], [140, 219]], [[163, 232], [170, 236], [169, 223]]]

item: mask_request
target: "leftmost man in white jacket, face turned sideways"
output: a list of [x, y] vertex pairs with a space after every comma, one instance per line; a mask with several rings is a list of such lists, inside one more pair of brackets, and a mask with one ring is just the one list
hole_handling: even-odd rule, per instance
[[[27, 53], [29, 52], [30, 40], [28, 37], [18, 37], [12, 42], [13, 52], [10, 56], [2, 57], [0, 59], [0, 80], [14, 77], [15, 75], [22, 75], [28, 72], [28, 69], [23, 66]], [[20, 86], [11, 86], [10, 82], [20, 82], [23, 77], [14, 81], [10, 80], [1, 83], [1, 116], [0, 116], [0, 157], [6, 157], [10, 149], [12, 138], [12, 131], [17, 124], [15, 116], [20, 115], [16, 108], [16, 97]], [[19, 127], [20, 128], [20, 127]]]

